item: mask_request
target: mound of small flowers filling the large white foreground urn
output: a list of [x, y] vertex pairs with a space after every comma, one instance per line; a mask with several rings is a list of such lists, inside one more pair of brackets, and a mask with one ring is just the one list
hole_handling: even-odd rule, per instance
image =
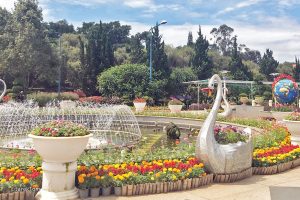
[[34, 128], [31, 134], [46, 137], [73, 137], [88, 135], [89, 131], [85, 126], [71, 121], [52, 121]]

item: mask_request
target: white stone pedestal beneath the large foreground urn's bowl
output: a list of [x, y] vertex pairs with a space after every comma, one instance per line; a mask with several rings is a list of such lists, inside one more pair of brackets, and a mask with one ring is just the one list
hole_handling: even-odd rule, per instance
[[43, 162], [43, 185], [36, 195], [37, 200], [78, 199], [75, 188], [77, 162], [53, 163]]

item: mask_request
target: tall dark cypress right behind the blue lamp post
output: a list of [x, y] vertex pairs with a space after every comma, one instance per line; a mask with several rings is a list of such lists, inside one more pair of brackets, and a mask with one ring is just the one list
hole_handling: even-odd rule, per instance
[[[152, 66], [153, 76], [157, 79], [165, 79], [170, 76], [170, 68], [168, 66], [168, 58], [165, 53], [165, 43], [161, 42], [161, 35], [159, 35], [158, 25], [152, 30], [150, 37], [152, 37]], [[148, 38], [147, 55], [150, 55], [150, 39]], [[148, 60], [149, 64], [149, 60]]]

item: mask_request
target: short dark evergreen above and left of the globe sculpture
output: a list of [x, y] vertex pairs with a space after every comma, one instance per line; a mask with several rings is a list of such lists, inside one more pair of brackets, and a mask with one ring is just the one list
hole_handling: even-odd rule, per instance
[[264, 74], [269, 81], [272, 81], [273, 78], [270, 74], [276, 72], [278, 65], [279, 62], [273, 58], [273, 51], [267, 49], [259, 63], [260, 73]]

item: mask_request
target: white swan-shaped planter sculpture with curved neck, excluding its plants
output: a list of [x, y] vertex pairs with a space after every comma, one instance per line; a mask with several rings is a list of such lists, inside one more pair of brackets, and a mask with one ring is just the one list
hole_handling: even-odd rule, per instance
[[240, 173], [251, 168], [252, 164], [252, 138], [251, 129], [244, 131], [249, 134], [246, 143], [218, 144], [214, 137], [214, 126], [218, 109], [223, 98], [221, 78], [215, 74], [209, 80], [208, 87], [214, 88], [218, 84], [214, 105], [204, 121], [196, 141], [196, 156], [203, 161], [207, 169], [215, 174]]

